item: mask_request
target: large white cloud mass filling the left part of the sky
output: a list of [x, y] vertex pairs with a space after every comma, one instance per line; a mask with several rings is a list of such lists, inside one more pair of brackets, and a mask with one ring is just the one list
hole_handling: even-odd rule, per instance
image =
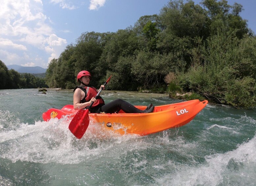
[[[52, 0], [62, 7], [64, 0]], [[71, 8], [70, 6], [69, 8]], [[67, 41], [54, 34], [50, 18], [43, 13], [42, 0], [2, 0], [0, 6], [0, 59], [6, 64], [47, 66], [58, 58]], [[27, 53], [22, 53], [27, 51]], [[36, 57], [42, 54], [42, 57]], [[46, 62], [47, 61], [47, 62]]]

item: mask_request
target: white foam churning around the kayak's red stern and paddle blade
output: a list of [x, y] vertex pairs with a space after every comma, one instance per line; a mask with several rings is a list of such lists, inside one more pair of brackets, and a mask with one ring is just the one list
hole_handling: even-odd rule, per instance
[[[0, 147], [3, 151], [0, 157], [13, 162], [21, 160], [76, 164], [88, 158], [98, 157], [104, 152], [122, 152], [122, 148], [116, 149], [118, 147], [113, 146], [125, 146], [126, 141], [130, 143], [129, 140], [141, 138], [137, 135], [121, 136], [90, 122], [83, 138], [76, 139], [68, 129], [69, 123], [67, 118], [51, 119], [48, 122], [37, 121], [35, 125], [22, 124], [16, 130], [1, 132]], [[4, 148], [3, 144], [8, 144], [8, 147]]]

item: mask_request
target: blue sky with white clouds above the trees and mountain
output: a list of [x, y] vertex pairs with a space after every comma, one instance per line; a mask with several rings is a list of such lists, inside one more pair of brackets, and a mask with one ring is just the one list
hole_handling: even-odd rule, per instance
[[[193, 0], [199, 4], [201, 0]], [[84, 32], [116, 32], [144, 15], [159, 14], [169, 0], [0, 0], [0, 60], [47, 68]], [[256, 0], [228, 0], [256, 33]]]

